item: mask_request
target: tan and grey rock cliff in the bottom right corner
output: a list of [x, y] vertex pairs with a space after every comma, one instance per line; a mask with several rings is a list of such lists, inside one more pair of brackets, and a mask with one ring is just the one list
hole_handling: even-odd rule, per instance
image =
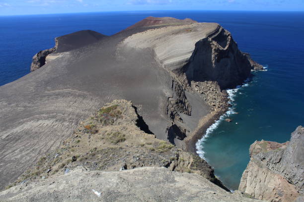
[[304, 194], [304, 127], [290, 142], [256, 141], [250, 146], [250, 162], [239, 190], [270, 202], [293, 202]]

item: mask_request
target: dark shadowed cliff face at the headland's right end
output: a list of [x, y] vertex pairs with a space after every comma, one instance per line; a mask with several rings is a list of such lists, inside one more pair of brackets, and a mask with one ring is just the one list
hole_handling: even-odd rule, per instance
[[231, 34], [220, 26], [195, 44], [194, 54], [185, 68], [189, 81], [216, 81], [221, 90], [241, 84], [250, 71], [248, 58], [238, 50]]

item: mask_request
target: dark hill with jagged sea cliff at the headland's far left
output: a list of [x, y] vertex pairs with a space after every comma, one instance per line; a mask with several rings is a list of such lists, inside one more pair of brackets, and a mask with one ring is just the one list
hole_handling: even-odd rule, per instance
[[91, 30], [82, 30], [67, 34], [55, 39], [55, 47], [52, 49], [41, 50], [33, 56], [31, 64], [31, 72], [39, 69], [46, 63], [47, 56], [52, 53], [67, 52], [70, 50], [78, 49], [89, 44], [95, 43], [106, 37], [98, 32]]

